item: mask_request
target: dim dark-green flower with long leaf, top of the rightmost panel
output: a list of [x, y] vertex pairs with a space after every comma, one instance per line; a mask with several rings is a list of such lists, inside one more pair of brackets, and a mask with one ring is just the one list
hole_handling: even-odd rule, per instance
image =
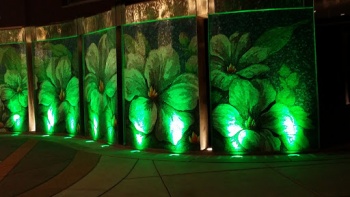
[[227, 91], [237, 77], [252, 79], [269, 71], [263, 61], [282, 49], [302, 23], [267, 30], [254, 43], [249, 33], [236, 32], [230, 37], [214, 35], [210, 40], [212, 85]]

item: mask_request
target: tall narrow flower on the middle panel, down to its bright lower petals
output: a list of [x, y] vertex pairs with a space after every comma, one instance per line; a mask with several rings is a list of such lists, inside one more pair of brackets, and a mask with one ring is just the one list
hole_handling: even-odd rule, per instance
[[[116, 121], [117, 63], [116, 48], [109, 34], [103, 34], [98, 45], [91, 43], [86, 50], [84, 94], [88, 105], [90, 134], [99, 139], [101, 125], [107, 129], [108, 142], [114, 142]], [[102, 124], [103, 123], [103, 124]]]

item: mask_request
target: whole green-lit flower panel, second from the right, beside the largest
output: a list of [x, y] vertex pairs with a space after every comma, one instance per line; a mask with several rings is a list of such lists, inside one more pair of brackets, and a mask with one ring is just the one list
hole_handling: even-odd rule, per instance
[[126, 143], [199, 149], [196, 19], [123, 26]]

